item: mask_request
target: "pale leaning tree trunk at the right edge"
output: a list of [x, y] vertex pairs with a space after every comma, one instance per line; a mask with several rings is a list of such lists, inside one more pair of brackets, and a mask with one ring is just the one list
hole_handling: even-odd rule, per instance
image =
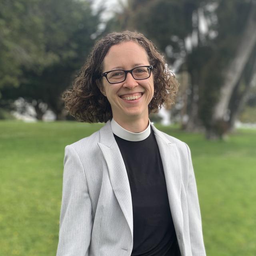
[[[234, 50], [232, 60], [229, 61], [220, 88], [220, 98], [212, 115], [212, 122], [225, 122], [230, 130], [234, 124], [234, 117], [237, 116], [240, 105], [244, 103], [243, 96], [238, 96], [241, 86], [244, 86], [244, 95], [250, 87], [250, 80], [255, 73], [254, 63], [256, 62], [256, 3], [252, 1], [247, 11], [247, 18], [244, 22], [243, 31], [237, 38], [237, 46]], [[248, 68], [250, 71], [248, 72]], [[244, 79], [243, 79], [244, 78]], [[227, 120], [225, 120], [227, 119]]]

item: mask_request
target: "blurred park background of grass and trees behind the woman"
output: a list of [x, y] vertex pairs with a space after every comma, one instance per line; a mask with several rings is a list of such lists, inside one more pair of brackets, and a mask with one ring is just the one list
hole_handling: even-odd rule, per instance
[[122, 30], [180, 82], [150, 120], [191, 148], [207, 254], [256, 255], [255, 0], [0, 0], [0, 255], [56, 254], [64, 147], [103, 125], [73, 122], [61, 94]]

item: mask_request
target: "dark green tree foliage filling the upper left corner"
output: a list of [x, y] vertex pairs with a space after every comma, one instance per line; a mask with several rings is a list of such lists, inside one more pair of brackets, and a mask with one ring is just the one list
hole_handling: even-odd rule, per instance
[[58, 115], [63, 109], [61, 93], [94, 44], [90, 36], [98, 28], [99, 16], [92, 15], [89, 1], [5, 2], [3, 9], [0, 6], [0, 26], [7, 35], [0, 51], [2, 97], [45, 102]]

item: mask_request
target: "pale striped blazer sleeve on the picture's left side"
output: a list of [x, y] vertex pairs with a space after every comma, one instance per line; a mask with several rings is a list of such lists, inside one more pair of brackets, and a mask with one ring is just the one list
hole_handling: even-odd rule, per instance
[[82, 162], [66, 146], [57, 256], [88, 256], [92, 232], [92, 204]]

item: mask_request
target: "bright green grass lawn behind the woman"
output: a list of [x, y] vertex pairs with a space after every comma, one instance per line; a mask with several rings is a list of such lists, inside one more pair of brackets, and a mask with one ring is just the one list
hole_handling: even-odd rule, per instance
[[[64, 147], [100, 127], [0, 122], [0, 256], [56, 255]], [[256, 131], [208, 142], [157, 127], [190, 146], [207, 255], [256, 255]]]

